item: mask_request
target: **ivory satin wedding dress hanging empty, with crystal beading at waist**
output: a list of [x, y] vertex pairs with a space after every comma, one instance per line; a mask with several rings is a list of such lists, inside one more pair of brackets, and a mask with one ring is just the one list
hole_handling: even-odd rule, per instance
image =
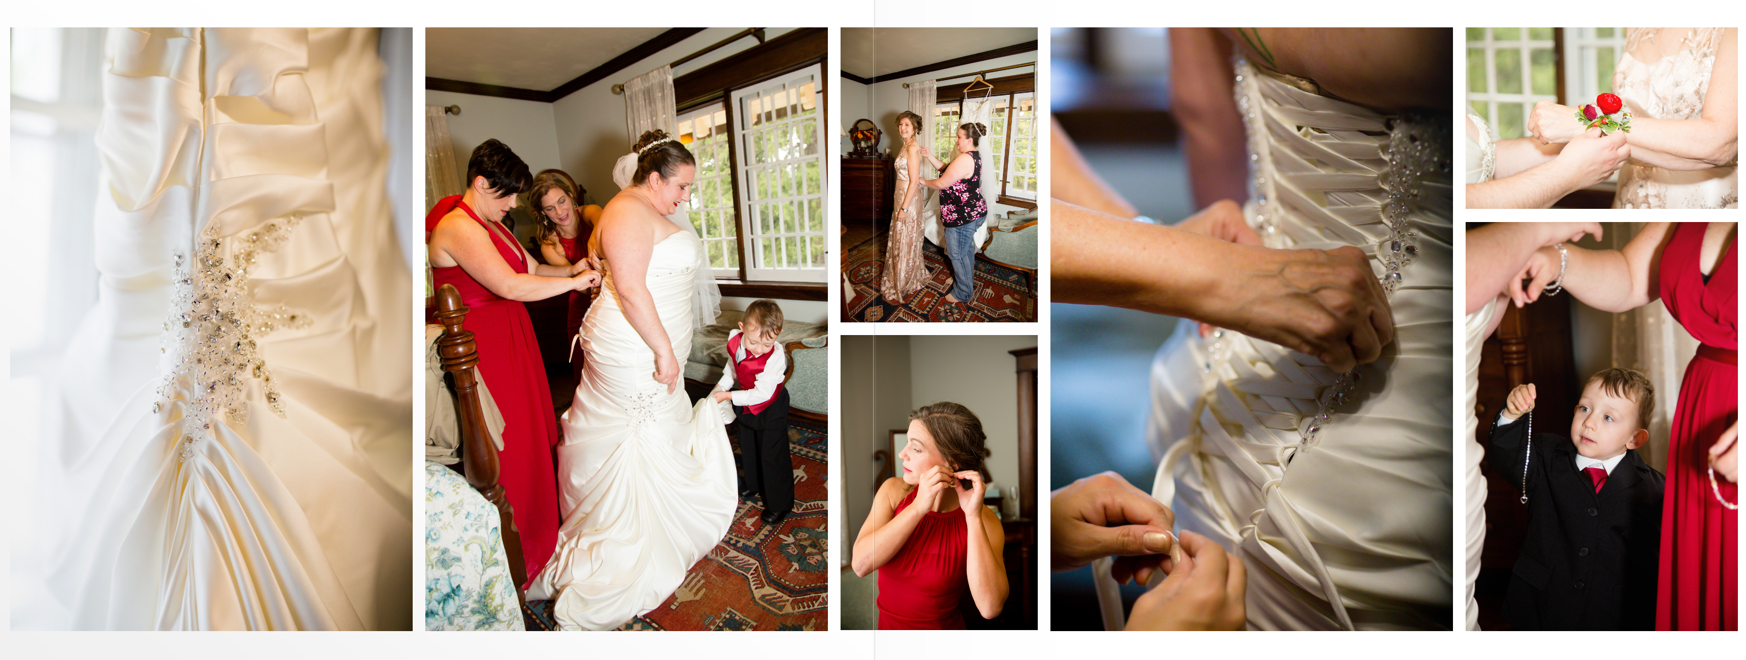
[[[110, 30], [100, 297], [31, 629], [410, 629], [410, 272], [375, 30]], [[40, 571], [38, 571], [40, 569]]]

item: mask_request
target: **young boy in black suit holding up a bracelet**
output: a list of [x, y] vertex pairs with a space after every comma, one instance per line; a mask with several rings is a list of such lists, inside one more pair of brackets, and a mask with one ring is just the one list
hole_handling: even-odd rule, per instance
[[1653, 384], [1629, 368], [1591, 375], [1570, 438], [1528, 440], [1533, 402], [1535, 386], [1517, 386], [1491, 428], [1493, 464], [1528, 494], [1503, 616], [1519, 630], [1652, 630], [1664, 478], [1636, 449]]

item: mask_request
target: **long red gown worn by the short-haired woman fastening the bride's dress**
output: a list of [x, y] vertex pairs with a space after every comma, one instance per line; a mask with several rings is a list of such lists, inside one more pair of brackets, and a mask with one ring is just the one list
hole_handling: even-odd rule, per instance
[[[443, 215], [459, 208], [485, 227], [491, 243], [515, 272], [527, 272], [527, 262], [513, 236], [494, 222], [484, 222], [461, 196], [443, 197], [424, 217], [424, 239]], [[557, 414], [552, 412], [552, 391], [545, 365], [540, 361], [540, 344], [527, 320], [527, 307], [491, 293], [459, 265], [431, 267], [433, 286], [454, 285], [466, 304], [461, 328], [473, 333], [478, 344], [478, 375], [491, 388], [491, 398], [503, 412], [503, 452], [498, 456], [505, 494], [515, 508], [515, 527], [522, 534], [522, 555], [527, 560], [527, 578], [540, 574], [552, 550], [557, 548], [557, 527], [562, 522], [557, 501], [557, 471], [552, 447], [562, 438], [557, 431]]]

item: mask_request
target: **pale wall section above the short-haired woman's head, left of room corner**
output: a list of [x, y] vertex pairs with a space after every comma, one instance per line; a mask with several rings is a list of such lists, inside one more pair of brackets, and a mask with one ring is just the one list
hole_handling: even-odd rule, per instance
[[[473, 147], [498, 138], [527, 161], [529, 171], [559, 166], [557, 126], [552, 122], [552, 103], [522, 101], [457, 94], [426, 89], [426, 105], [459, 105], [459, 115], [449, 115], [449, 138], [454, 143], [454, 168], [464, 176], [466, 159]], [[430, 199], [428, 204], [436, 203]], [[428, 206], [426, 204], [426, 206]]]

